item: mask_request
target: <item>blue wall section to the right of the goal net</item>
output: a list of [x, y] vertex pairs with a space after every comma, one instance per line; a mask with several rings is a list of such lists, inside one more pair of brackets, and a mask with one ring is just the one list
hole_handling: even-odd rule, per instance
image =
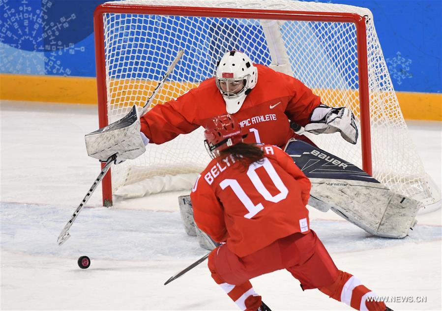
[[441, 0], [333, 0], [369, 8], [396, 91], [441, 93]]

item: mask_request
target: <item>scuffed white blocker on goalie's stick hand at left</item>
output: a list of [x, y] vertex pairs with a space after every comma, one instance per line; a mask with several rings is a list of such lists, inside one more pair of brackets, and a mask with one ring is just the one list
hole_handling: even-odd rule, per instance
[[111, 156], [117, 155], [115, 164], [141, 156], [149, 139], [140, 129], [137, 107], [133, 106], [122, 119], [85, 136], [88, 156], [107, 162]]

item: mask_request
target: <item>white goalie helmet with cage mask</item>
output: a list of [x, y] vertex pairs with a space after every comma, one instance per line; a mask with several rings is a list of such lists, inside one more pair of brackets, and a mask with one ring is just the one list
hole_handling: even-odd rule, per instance
[[215, 81], [226, 102], [227, 113], [234, 114], [256, 86], [258, 70], [246, 54], [230, 51], [218, 62]]

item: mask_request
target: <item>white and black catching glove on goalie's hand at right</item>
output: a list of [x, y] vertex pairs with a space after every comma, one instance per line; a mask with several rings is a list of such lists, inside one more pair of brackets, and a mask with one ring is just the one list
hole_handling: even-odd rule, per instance
[[313, 134], [330, 134], [340, 132], [342, 138], [356, 144], [358, 131], [352, 111], [346, 107], [328, 107], [319, 105], [313, 110], [310, 118], [312, 123], [304, 126], [304, 130]]

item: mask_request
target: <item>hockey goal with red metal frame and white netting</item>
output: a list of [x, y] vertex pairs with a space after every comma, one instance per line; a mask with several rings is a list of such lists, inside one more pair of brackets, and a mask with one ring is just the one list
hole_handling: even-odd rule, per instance
[[[440, 199], [407, 131], [370, 10], [290, 0], [125, 0], [94, 15], [100, 127], [132, 105], [143, 107], [177, 51], [178, 62], [153, 105], [173, 100], [212, 77], [229, 50], [293, 75], [329, 106], [347, 106], [360, 129], [356, 145], [339, 134], [310, 136], [392, 190], [422, 201]], [[210, 99], [207, 99], [210, 104]], [[112, 168], [112, 194], [143, 196], [191, 188], [209, 161], [202, 129], [180, 135]], [[112, 186], [111, 186], [112, 185]]]

